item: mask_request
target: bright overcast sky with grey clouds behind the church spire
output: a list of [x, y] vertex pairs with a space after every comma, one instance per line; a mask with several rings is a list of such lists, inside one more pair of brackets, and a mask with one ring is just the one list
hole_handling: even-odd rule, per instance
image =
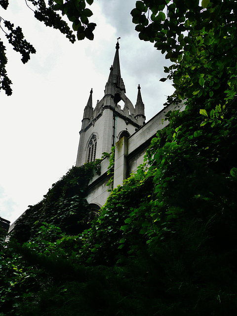
[[[90, 7], [95, 39], [74, 44], [37, 21], [25, 1], [9, 2], [0, 16], [21, 26], [37, 50], [23, 65], [7, 45], [13, 94], [0, 92], [0, 216], [12, 223], [75, 165], [83, 109], [91, 88], [94, 107], [104, 95], [118, 37], [126, 95], [135, 105], [141, 85], [147, 120], [162, 109], [173, 87], [159, 81], [165, 77], [164, 56], [134, 30], [135, 0], [95, 1]], [[3, 37], [1, 32], [6, 44]]]

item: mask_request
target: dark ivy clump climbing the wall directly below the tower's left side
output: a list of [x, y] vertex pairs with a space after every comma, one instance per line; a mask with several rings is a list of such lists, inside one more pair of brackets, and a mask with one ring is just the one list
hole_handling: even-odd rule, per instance
[[91, 214], [84, 195], [93, 173], [100, 173], [100, 161], [96, 159], [81, 167], [72, 167], [52, 185], [42, 201], [29, 205], [17, 221], [11, 237], [18, 242], [26, 242], [35, 236], [43, 222], [56, 225], [71, 235], [79, 234], [87, 228]]

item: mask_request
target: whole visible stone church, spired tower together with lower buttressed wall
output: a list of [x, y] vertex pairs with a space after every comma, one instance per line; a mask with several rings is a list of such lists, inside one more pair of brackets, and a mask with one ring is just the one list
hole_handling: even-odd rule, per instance
[[[163, 121], [165, 113], [176, 109], [174, 105], [170, 105], [145, 123], [140, 85], [138, 85], [135, 108], [125, 94], [125, 85], [120, 74], [118, 50], [119, 43], [117, 42], [114, 62], [105, 85], [104, 97], [97, 101], [93, 109], [91, 89], [79, 132], [77, 166], [86, 161], [101, 158], [104, 152], [111, 153], [111, 148], [115, 146], [113, 187], [108, 188], [107, 186], [111, 177], [111, 175], [107, 175], [109, 158], [102, 160], [101, 175], [95, 175], [88, 186], [86, 199], [95, 209], [99, 209], [106, 202], [110, 195], [108, 189], [122, 185], [124, 179], [132, 172], [136, 172], [137, 167], [143, 163], [152, 138], [156, 136], [159, 129], [168, 124], [168, 121]], [[119, 105], [121, 100], [124, 103], [123, 109]], [[182, 111], [183, 104], [178, 108]]]

